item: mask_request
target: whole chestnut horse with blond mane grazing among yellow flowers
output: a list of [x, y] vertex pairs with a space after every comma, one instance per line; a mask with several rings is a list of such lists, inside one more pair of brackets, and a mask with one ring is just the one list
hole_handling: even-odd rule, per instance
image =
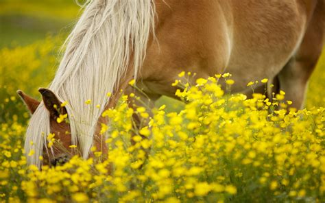
[[[128, 85], [130, 80], [153, 106], [161, 95], [175, 97], [171, 83], [181, 71], [197, 73], [195, 78], [230, 72], [236, 81], [232, 92], [247, 95], [248, 82], [266, 77], [268, 97], [281, 89], [293, 107], [302, 108], [322, 52], [324, 13], [322, 0], [88, 2], [64, 43], [53, 81], [39, 89], [43, 101], [18, 91], [32, 112], [27, 162], [38, 167], [64, 162], [69, 145], [77, 145], [83, 158], [92, 156], [92, 146], [106, 152], [99, 130], [100, 123], [109, 121], [101, 112], [116, 105], [119, 90], [141, 96]], [[69, 123], [58, 122], [60, 115], [69, 117]], [[65, 150], [49, 147], [53, 136]]]

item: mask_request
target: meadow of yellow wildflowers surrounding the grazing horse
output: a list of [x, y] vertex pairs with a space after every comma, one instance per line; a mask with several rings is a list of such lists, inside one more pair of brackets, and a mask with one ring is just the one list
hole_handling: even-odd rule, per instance
[[[3, 1], [0, 19], [10, 18], [8, 10], [40, 18], [30, 12], [34, 9], [65, 22], [78, 10], [63, 1], [35, 1], [34, 7], [12, 2], [23, 1]], [[69, 9], [60, 11], [59, 5]], [[324, 55], [311, 77], [304, 110], [285, 110], [291, 101], [282, 91], [274, 101], [259, 94], [252, 99], [232, 95], [236, 81], [229, 73], [190, 85], [186, 81], [195, 73], [182, 72], [182, 82], [171, 85], [182, 87], [176, 96], [184, 102], [160, 99], [149, 116], [147, 106], [129, 108], [130, 97], [136, 96], [124, 95], [116, 108], [103, 112], [111, 121], [101, 130], [110, 133], [107, 159], [97, 152], [88, 160], [75, 156], [39, 171], [26, 165], [29, 113], [16, 90], [40, 99], [38, 87], [53, 78], [65, 34], [36, 36], [23, 36], [29, 43], [23, 38], [1, 43], [1, 202], [325, 202]], [[14, 40], [5, 33], [2, 37]], [[226, 81], [226, 90], [220, 81]], [[136, 128], [133, 114], [149, 124]]]

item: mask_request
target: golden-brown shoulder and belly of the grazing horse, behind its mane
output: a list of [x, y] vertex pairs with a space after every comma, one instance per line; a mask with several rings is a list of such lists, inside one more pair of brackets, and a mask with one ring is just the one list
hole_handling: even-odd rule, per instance
[[[177, 79], [180, 71], [195, 72], [197, 77], [230, 72], [235, 81], [233, 92], [248, 93], [248, 82], [265, 77], [274, 82], [272, 79], [300, 50], [316, 1], [307, 3], [308, 6], [303, 1], [280, 0], [156, 3], [158, 43], [152, 40], [148, 46], [140, 74], [143, 88], [147, 93], [173, 96], [175, 88], [168, 84]], [[322, 8], [322, 3], [317, 6]], [[318, 32], [322, 35], [322, 31]], [[313, 54], [318, 58], [322, 40], [310, 41], [317, 44], [318, 53]], [[301, 87], [298, 89], [303, 92]], [[289, 99], [301, 108], [301, 98]]]

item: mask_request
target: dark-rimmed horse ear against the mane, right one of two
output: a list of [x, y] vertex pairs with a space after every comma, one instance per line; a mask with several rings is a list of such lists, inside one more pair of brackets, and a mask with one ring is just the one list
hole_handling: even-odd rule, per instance
[[51, 117], [56, 119], [60, 115], [67, 113], [66, 108], [61, 107], [62, 102], [56, 97], [56, 95], [47, 88], [39, 88], [38, 92], [43, 97], [44, 105], [49, 110]]

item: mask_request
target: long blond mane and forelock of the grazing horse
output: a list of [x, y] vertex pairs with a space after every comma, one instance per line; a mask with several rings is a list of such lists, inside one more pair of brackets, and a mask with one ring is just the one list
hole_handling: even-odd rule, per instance
[[[132, 66], [139, 73], [151, 30], [154, 0], [90, 1], [67, 38], [65, 52], [49, 89], [66, 106], [72, 143], [88, 157], [97, 121], [119, 80]], [[91, 99], [93, 106], [84, 101]], [[100, 104], [100, 108], [95, 105]], [[29, 164], [40, 167], [39, 156], [50, 133], [49, 113], [43, 102], [34, 112], [26, 132], [25, 152]], [[33, 153], [31, 150], [34, 150]]]

